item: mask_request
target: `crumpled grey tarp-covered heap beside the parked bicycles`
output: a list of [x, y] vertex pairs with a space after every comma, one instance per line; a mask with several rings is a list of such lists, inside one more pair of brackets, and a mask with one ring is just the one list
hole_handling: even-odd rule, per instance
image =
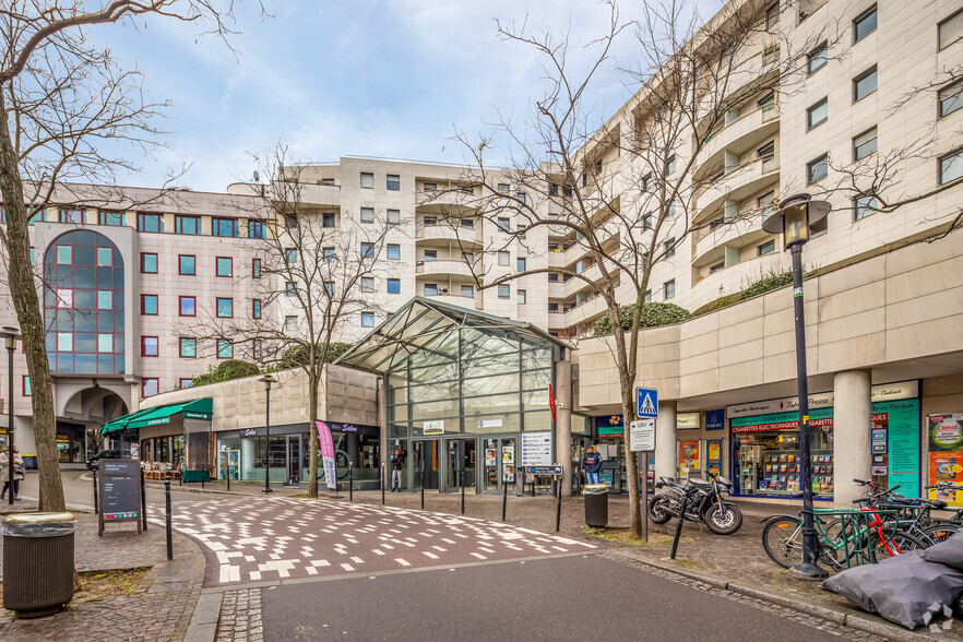
[[963, 594], [963, 573], [919, 557], [920, 551], [842, 571], [819, 587], [907, 629], [942, 617]]

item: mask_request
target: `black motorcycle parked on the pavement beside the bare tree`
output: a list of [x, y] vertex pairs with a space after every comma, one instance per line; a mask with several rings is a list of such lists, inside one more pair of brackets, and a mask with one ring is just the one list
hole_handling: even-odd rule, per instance
[[681, 484], [674, 477], [659, 477], [656, 488], [664, 489], [649, 500], [649, 519], [665, 524], [679, 516], [682, 497], [686, 520], [705, 524], [716, 535], [732, 535], [742, 526], [742, 511], [735, 503], [724, 501], [723, 492], [732, 492], [733, 484], [725, 477], [709, 473], [709, 479], [689, 479]]

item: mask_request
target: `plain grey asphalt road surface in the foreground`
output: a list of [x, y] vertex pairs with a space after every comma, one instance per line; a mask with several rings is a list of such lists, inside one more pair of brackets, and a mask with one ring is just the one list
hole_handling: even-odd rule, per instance
[[586, 555], [261, 592], [265, 640], [836, 640], [749, 604]]

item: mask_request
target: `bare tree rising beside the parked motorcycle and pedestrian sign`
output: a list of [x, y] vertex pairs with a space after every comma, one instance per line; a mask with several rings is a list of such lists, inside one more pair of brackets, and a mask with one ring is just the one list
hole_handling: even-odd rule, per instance
[[[508, 169], [486, 166], [494, 136], [480, 142], [462, 133], [455, 138], [478, 167], [471, 173], [482, 189], [476, 207], [491, 219], [510, 211], [521, 222], [518, 229], [506, 230], [504, 245], [527, 242], [526, 235], [543, 227], [584, 255], [575, 269], [540, 268], [495, 278], [476, 273], [477, 286], [549, 272], [580, 280], [591, 296], [602, 297], [613, 328], [628, 441], [653, 268], [670, 262], [687, 239], [720, 225], [756, 222], [770, 205], [766, 199], [734, 207], [723, 191], [709, 199], [720, 179], [737, 171], [761, 177], [773, 171], [772, 185], [777, 183], [774, 148], [732, 157], [715, 148], [713, 139], [740, 116], [777, 119], [778, 96], [793, 91], [785, 80], [788, 72], [805, 64], [800, 52], [827, 36], [816, 35], [790, 50], [766, 28], [763, 2], [727, 5], [709, 25], [689, 17], [676, 2], [645, 3], [632, 23], [620, 20], [615, 2], [607, 7], [607, 29], [592, 41], [596, 54], [582, 73], [570, 71], [567, 37], [498, 25], [503, 39], [539, 56], [546, 87], [522, 126], [504, 118], [496, 123], [498, 134], [510, 141]], [[634, 32], [642, 59], [638, 68], [621, 71], [641, 88], [619, 114], [599, 122], [586, 94], [610, 66], [611, 47], [627, 31]], [[627, 304], [632, 306], [628, 323], [619, 314]], [[632, 534], [641, 537], [638, 461], [628, 449], [626, 467]]]

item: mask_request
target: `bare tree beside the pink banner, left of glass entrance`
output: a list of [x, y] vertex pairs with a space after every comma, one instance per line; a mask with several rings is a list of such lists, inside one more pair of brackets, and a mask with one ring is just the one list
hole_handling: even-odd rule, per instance
[[[325, 364], [341, 355], [345, 338], [361, 325], [361, 314], [383, 313], [385, 240], [399, 229], [387, 211], [338, 216], [310, 199], [317, 185], [310, 165], [296, 163], [284, 144], [255, 159], [258, 175], [272, 177], [252, 185], [260, 197], [248, 212], [248, 225], [259, 226], [260, 273], [249, 280], [259, 308], [253, 314], [218, 319], [201, 314], [185, 332], [207, 346], [235, 342], [252, 360], [274, 367], [300, 368], [308, 379], [310, 466], [309, 495], [318, 497], [319, 391]], [[360, 213], [359, 213], [360, 214]], [[369, 217], [370, 216], [370, 217]], [[249, 235], [251, 236], [251, 235]], [[378, 292], [378, 283], [381, 290]]]

